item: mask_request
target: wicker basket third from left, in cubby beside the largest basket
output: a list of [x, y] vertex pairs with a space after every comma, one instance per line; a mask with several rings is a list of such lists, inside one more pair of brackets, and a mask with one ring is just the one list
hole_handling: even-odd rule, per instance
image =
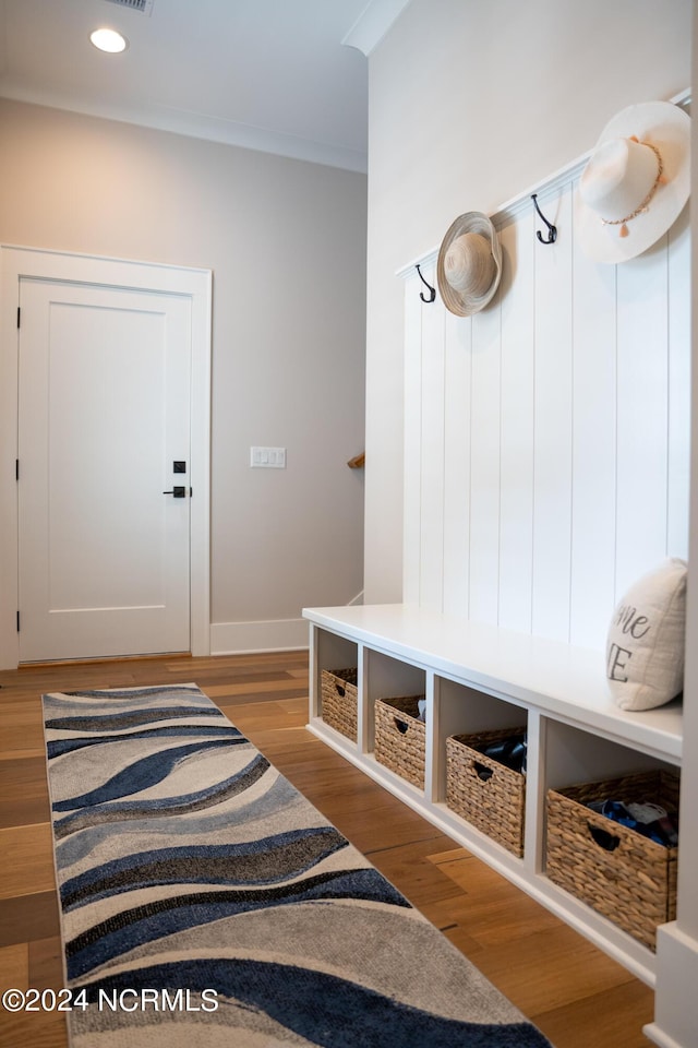
[[446, 739], [446, 805], [514, 855], [524, 855], [526, 776], [479, 748], [520, 736], [522, 728]]

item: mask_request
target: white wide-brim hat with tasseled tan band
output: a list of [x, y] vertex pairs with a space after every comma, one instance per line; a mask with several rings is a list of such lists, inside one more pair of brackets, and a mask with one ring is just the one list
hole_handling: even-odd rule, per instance
[[671, 102], [628, 106], [603, 129], [575, 194], [594, 262], [625, 262], [674, 224], [690, 192], [690, 117]]

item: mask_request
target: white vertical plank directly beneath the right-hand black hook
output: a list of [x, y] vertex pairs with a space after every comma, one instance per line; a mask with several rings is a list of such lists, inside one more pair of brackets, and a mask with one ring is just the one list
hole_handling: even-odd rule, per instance
[[571, 187], [539, 199], [557, 226], [535, 246], [532, 632], [569, 638], [571, 531]]

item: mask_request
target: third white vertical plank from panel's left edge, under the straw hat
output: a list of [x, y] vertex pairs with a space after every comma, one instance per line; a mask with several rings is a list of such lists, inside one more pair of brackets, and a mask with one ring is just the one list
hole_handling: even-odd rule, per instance
[[472, 324], [446, 313], [444, 611], [468, 616]]

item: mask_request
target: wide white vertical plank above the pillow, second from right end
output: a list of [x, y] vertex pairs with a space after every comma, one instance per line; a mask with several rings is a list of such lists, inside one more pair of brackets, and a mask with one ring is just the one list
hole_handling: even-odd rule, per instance
[[666, 552], [666, 240], [617, 266], [617, 597]]

